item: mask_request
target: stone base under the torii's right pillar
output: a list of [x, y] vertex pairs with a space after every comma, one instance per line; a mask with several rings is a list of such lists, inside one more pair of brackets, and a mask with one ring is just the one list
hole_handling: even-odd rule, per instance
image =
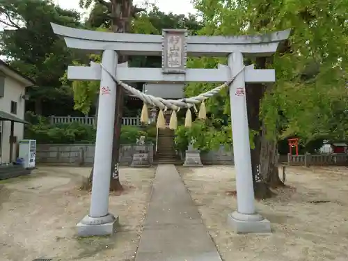
[[271, 233], [271, 222], [260, 214], [241, 214], [237, 211], [228, 215], [228, 224], [237, 234]]

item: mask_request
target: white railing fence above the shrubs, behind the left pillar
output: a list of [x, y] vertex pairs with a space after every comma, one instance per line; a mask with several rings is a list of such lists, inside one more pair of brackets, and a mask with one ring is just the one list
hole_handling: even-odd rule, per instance
[[[86, 125], [94, 125], [95, 118], [94, 117], [73, 117], [73, 116], [50, 116], [51, 124], [56, 123], [71, 123], [71, 122], [79, 122], [81, 124]], [[127, 126], [140, 126], [140, 118], [139, 117], [124, 117], [122, 118], [122, 125]]]

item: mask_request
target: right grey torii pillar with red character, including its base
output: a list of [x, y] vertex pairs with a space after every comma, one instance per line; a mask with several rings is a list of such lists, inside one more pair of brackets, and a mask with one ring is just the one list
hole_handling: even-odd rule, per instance
[[[228, 56], [228, 66], [231, 75], [236, 75], [244, 66], [243, 55], [241, 53], [230, 54]], [[228, 215], [228, 223], [237, 233], [271, 232], [271, 223], [255, 211], [245, 80], [242, 73], [238, 74], [230, 85], [230, 107], [233, 155], [235, 157], [237, 211]]]

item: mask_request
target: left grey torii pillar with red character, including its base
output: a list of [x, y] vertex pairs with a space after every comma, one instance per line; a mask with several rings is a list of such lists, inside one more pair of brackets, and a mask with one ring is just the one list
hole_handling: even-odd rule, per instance
[[[105, 50], [102, 54], [102, 63], [106, 70], [113, 72], [116, 70], [118, 55], [113, 50]], [[77, 224], [77, 235], [80, 237], [112, 235], [118, 223], [118, 216], [109, 213], [116, 83], [105, 70], [100, 72], [100, 78], [92, 196], [89, 214]]]

